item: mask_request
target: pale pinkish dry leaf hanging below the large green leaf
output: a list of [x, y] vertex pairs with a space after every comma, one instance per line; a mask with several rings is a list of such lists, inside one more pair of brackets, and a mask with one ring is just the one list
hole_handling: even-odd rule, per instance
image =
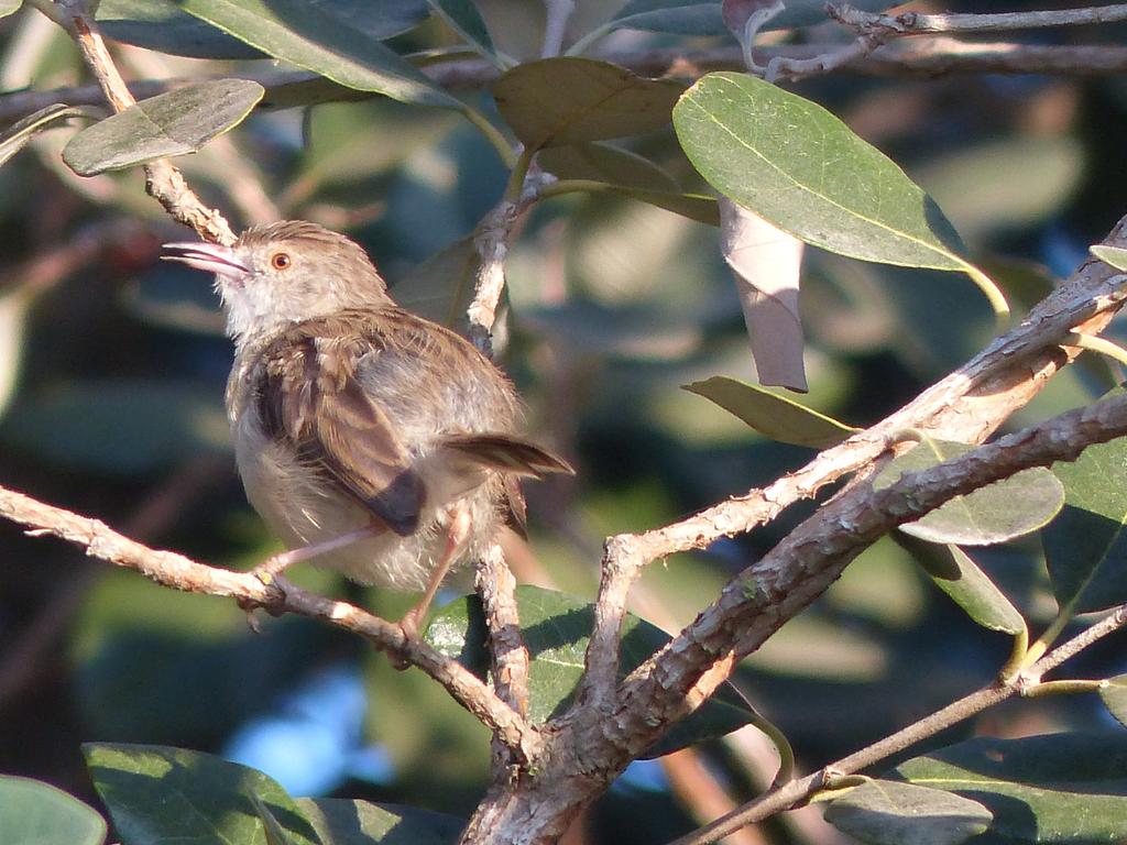
[[807, 391], [798, 311], [802, 241], [720, 197], [720, 252], [731, 270], [762, 384]]

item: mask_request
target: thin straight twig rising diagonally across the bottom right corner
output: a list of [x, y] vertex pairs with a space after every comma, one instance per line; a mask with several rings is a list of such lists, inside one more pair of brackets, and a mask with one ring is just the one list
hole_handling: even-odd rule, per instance
[[1108, 616], [1092, 625], [1083, 633], [1077, 634], [1068, 642], [1054, 649], [1041, 660], [1035, 664], [1029, 673], [1012, 678], [1010, 681], [995, 682], [985, 686], [959, 701], [948, 704], [942, 710], [921, 719], [903, 730], [881, 739], [878, 742], [854, 751], [825, 766], [814, 774], [767, 792], [764, 795], [749, 801], [727, 816], [717, 819], [712, 824], [699, 830], [694, 830], [687, 836], [675, 839], [669, 845], [709, 845], [735, 830], [753, 825], [763, 819], [770, 818], [778, 812], [788, 810], [817, 792], [826, 783], [831, 773], [834, 775], [851, 774], [860, 772], [889, 756], [911, 748], [916, 742], [933, 737], [940, 731], [958, 724], [965, 719], [987, 710], [1006, 699], [1019, 695], [1030, 683], [1030, 678], [1040, 678], [1041, 675], [1059, 666], [1062, 662], [1088, 648], [1108, 634], [1118, 631], [1127, 624], [1127, 605], [1120, 605]]

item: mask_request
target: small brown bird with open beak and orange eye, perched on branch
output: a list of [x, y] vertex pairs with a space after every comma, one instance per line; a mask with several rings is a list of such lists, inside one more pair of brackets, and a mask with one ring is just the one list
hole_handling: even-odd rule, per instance
[[313, 223], [255, 226], [232, 247], [166, 243], [215, 274], [234, 338], [227, 411], [250, 504], [290, 549], [361, 584], [424, 592], [480, 554], [517, 478], [571, 473], [514, 435], [518, 400], [473, 346], [388, 295], [364, 250]]

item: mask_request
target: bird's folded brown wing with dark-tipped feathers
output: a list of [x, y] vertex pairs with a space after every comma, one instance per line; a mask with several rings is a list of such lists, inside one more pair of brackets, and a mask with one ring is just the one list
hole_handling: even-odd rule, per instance
[[418, 527], [426, 496], [387, 413], [364, 391], [361, 358], [379, 355], [378, 337], [310, 320], [268, 345], [258, 383], [267, 433], [290, 442], [397, 534]]

